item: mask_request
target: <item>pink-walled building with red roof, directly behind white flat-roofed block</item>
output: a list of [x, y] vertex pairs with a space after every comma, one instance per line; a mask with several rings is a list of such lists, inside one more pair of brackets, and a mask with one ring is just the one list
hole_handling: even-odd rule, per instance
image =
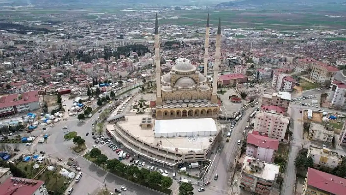
[[246, 155], [264, 162], [274, 162], [279, 140], [259, 135], [256, 131], [247, 134]]

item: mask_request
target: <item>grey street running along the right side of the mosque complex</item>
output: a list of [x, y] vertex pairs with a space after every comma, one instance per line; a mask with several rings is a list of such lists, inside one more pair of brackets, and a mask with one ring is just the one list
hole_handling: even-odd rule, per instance
[[[244, 112], [244, 116], [240, 119], [231, 134], [230, 141], [226, 142], [227, 132], [220, 144], [221, 150], [217, 151], [214, 157], [211, 158], [212, 164], [208, 172], [207, 178], [211, 181], [211, 184], [207, 187], [213, 190], [214, 194], [229, 194], [228, 193], [228, 181], [229, 181], [229, 170], [233, 165], [234, 159], [236, 158], [237, 151], [240, 145], [237, 144], [239, 139], [242, 139], [244, 127], [248, 122], [247, 116], [251, 114], [253, 109], [247, 109]], [[215, 174], [218, 174], [218, 180], [214, 180]]]

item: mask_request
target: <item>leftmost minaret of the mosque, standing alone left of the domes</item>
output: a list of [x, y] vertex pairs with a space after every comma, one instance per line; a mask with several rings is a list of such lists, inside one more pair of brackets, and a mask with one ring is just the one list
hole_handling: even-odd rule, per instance
[[162, 104], [161, 98], [161, 65], [160, 65], [160, 36], [158, 35], [157, 14], [155, 18], [155, 65], [156, 65], [156, 104]]

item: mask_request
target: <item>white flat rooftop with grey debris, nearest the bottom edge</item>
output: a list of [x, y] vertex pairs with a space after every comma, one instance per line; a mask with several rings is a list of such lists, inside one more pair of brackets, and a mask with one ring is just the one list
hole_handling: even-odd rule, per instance
[[[254, 163], [254, 160], [256, 163]], [[261, 169], [251, 169], [252, 166], [255, 164], [260, 165]], [[251, 174], [253, 176], [256, 176], [258, 178], [262, 178], [265, 180], [274, 181], [276, 174], [279, 174], [280, 166], [276, 165], [274, 163], [267, 163], [260, 161], [258, 159], [255, 159], [254, 157], [245, 156], [243, 161], [243, 171], [245, 171], [247, 174]]]

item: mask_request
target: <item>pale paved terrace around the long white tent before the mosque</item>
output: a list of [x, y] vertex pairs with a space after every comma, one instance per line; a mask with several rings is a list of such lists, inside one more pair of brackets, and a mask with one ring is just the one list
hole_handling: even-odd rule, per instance
[[[142, 128], [139, 126], [142, 123], [142, 118], [147, 115], [126, 115], [127, 121], [118, 122], [118, 124], [127, 130], [135, 137], [152, 144], [160, 143], [162, 148], [174, 151], [178, 148], [181, 152], [188, 151], [203, 151], [210, 147], [209, 139], [214, 139], [215, 136], [187, 136], [187, 137], [172, 137], [172, 138], [155, 138], [153, 128]], [[174, 119], [172, 119], [173, 121]], [[156, 120], [154, 119], [154, 124]], [[219, 129], [219, 128], [217, 128]]]

